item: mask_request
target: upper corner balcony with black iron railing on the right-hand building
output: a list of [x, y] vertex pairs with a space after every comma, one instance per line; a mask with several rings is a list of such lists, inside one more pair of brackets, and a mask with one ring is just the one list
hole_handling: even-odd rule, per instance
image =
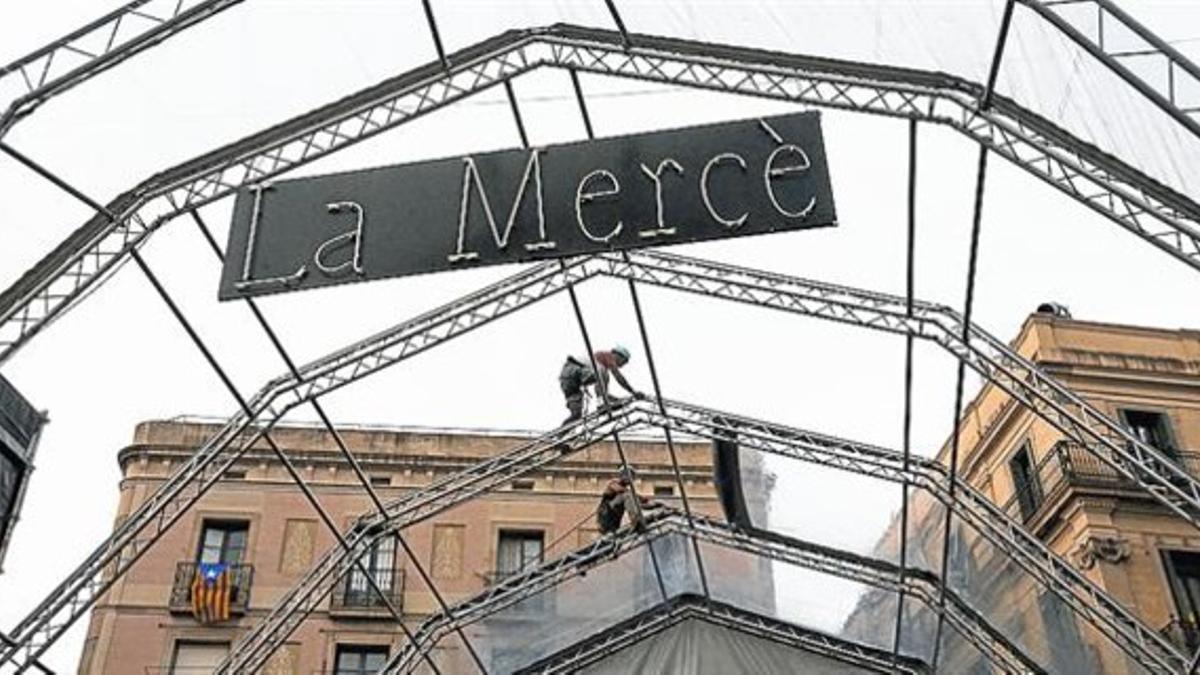
[[[1200, 453], [1174, 452], [1171, 456], [1183, 471], [1200, 476]], [[1142, 488], [1073, 441], [1055, 443], [1034, 466], [1033, 476], [1036, 480], [1019, 489], [1002, 508], [1036, 533], [1054, 522], [1060, 507], [1075, 491], [1148, 498]]]

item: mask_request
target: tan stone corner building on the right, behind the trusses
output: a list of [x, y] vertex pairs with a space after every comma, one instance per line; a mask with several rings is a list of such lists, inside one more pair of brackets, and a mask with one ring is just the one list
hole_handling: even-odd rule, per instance
[[[1200, 476], [1200, 331], [1094, 323], [1044, 311], [1028, 317], [1012, 345]], [[1195, 650], [1200, 531], [992, 384], [965, 407], [960, 422], [959, 474], [965, 483], [1025, 524], [1147, 626], [1181, 649]], [[943, 464], [949, 452], [947, 441], [938, 453]], [[910, 563], [940, 572], [943, 519], [944, 510], [932, 500], [912, 498]], [[898, 531], [893, 521], [878, 555], [895, 560]], [[952, 527], [948, 550], [952, 589], [1052, 670], [1140, 671], [1003, 551], [961, 522]], [[890, 613], [880, 613], [884, 604], [877, 593], [864, 596], [846, 622], [847, 632], [890, 629], [895, 604]], [[920, 623], [913, 621], [914, 641], [931, 638]], [[912, 649], [920, 652], [916, 645]], [[959, 659], [954, 671], [979, 668], [972, 649], [943, 649], [942, 656]]]

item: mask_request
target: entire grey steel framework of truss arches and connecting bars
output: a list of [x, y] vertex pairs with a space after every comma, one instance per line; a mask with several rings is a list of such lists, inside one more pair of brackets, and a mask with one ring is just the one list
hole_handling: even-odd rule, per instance
[[[653, 543], [666, 537], [690, 542], [692, 563], [697, 568], [703, 591], [701, 596], [668, 597], [660, 574], [664, 601], [661, 609], [630, 619], [607, 637], [598, 635], [594, 640], [586, 640], [577, 647], [530, 664], [530, 668], [536, 671], [563, 671], [631, 644], [640, 634], [661, 631], [672, 622], [698, 616], [737, 626], [754, 634], [772, 635], [787, 644], [878, 670], [936, 670], [936, 649], [929, 663], [900, 652], [899, 633], [905, 616], [902, 598], [911, 597], [937, 616], [936, 644], [941, 644], [942, 626], [948, 623], [1003, 671], [1044, 670], [1044, 664], [1025, 653], [1021, 645], [1014, 644], [990, 623], [988, 616], [972, 609], [950, 587], [947, 575], [949, 555], [944, 549], [941, 571], [925, 571], [906, 565], [904, 551], [907, 550], [907, 544], [902, 539], [899, 546], [900, 562], [894, 565], [779, 533], [734, 530], [692, 513], [674, 456], [672, 432], [712, 440], [732, 438], [755, 452], [900, 484], [905, 490], [905, 504], [908, 489], [912, 488], [944, 507], [944, 546], [950, 542], [952, 518], [958, 519], [1002, 551], [1022, 574], [1068, 607], [1079, 620], [1087, 622], [1099, 635], [1146, 670], [1195, 671], [1200, 653], [1181, 653], [1070, 563], [1050, 551], [1022, 525], [959, 480], [958, 428], [952, 435], [954, 452], [947, 466], [912, 456], [907, 437], [904, 450], [896, 452], [666, 399], [654, 369], [637, 297], [638, 286], [653, 286], [901, 335], [908, 345], [910, 366], [913, 340], [935, 344], [959, 364], [955, 419], [961, 413], [964, 372], [971, 369], [990, 386], [1004, 392], [1009, 396], [1009, 405], [1028, 408], [1130, 483], [1141, 486], [1150, 498], [1200, 527], [1200, 482], [1195, 477], [1058, 384], [971, 319], [980, 202], [990, 155], [1009, 160], [1144, 241], [1200, 270], [1200, 204], [1193, 196], [1168, 185], [1159, 175], [1151, 175], [1136, 162], [1126, 161], [1078, 137], [1072, 130], [1060, 126], [1038, 110], [1022, 106], [1019, 100], [996, 91], [997, 68], [1010, 20], [1016, 5], [1020, 5], [1092, 54], [1187, 133], [1200, 137], [1200, 127], [1195, 121], [1196, 109], [1183, 100], [1178, 94], [1182, 86], [1177, 86], [1177, 82], [1189, 78], [1200, 83], [1200, 70], [1109, 0], [1087, 0], [1085, 4], [1094, 5], [1102, 23], [1108, 20], [1124, 26], [1145, 40], [1153, 54], [1165, 59], [1169, 83], [1165, 89], [1139, 78], [1123, 65], [1123, 59], [1130, 54], [1106, 46], [1103, 32], [1093, 37], [1072, 25], [1062, 16], [1061, 2], [1008, 0], [1003, 7], [989, 77], [986, 82], [974, 82], [929, 70], [785, 54], [668, 35], [631, 34], [622, 20], [617, 4], [612, 1], [606, 2], [606, 7], [618, 29], [616, 31], [571, 25], [527, 28], [504, 32], [448, 54], [438, 34], [434, 4], [426, 0], [422, 6], [437, 47], [437, 60], [167, 168], [107, 203], [84, 195], [53, 169], [4, 141], [20, 120], [32, 115], [50, 97], [61, 95], [239, 4], [240, 0], [133, 1], [0, 68], [0, 107], [4, 109], [0, 114], [0, 150], [95, 211], [86, 223], [12, 287], [0, 293], [0, 363], [13, 358], [20, 347], [50, 322], [82, 301], [86, 293], [110, 277], [124, 262], [132, 259], [221, 377], [240, 408], [13, 631], [0, 635], [0, 671], [20, 673], [29, 668], [48, 670], [40, 661], [46, 650], [134, 566], [227, 468], [250, 453], [262, 452], [264, 446], [288, 468], [306, 498], [322, 515], [325, 526], [335, 533], [338, 546], [322, 556], [296, 586], [242, 637], [222, 665], [222, 673], [254, 671], [262, 668], [331, 589], [354, 567], [362, 565], [362, 557], [370, 548], [382, 537], [391, 536], [398, 537], [406, 555], [436, 597], [439, 611], [416, 631], [410, 631], [401, 621], [398, 610], [389, 603], [388, 609], [396, 619], [398, 629], [404, 632], [407, 643], [394, 655], [388, 671], [408, 671], [421, 662], [437, 670], [430, 651], [442, 637], [450, 633], [461, 638], [475, 665], [481, 671], [487, 671], [464, 632], [467, 626], [630, 551], [644, 548], [658, 572], [659, 561]], [[964, 311], [958, 312], [913, 297], [911, 275], [914, 263], [910, 214], [910, 285], [904, 297], [665, 252], [606, 252], [530, 265], [514, 276], [347, 345], [304, 366], [298, 366], [292, 360], [256, 304], [246, 300], [256, 321], [271, 338], [288, 371], [263, 384], [253, 395], [244, 396], [138, 253], [138, 249], [150, 235], [168, 229], [173, 221], [186, 215], [200, 227], [220, 257], [223, 253], [202, 217], [203, 207], [496, 85], [505, 88], [524, 142], [520, 106], [510, 83], [539, 68], [558, 68], [570, 73], [589, 136], [590, 120], [586, 97], [578, 86], [578, 73], [904, 118], [911, 120], [913, 143], [918, 123], [932, 123], [959, 132], [979, 147], [976, 213]], [[910, 178], [916, 167], [914, 145], [912, 148]], [[910, 189], [910, 209], [911, 204]], [[400, 500], [380, 500], [320, 407], [320, 398], [562, 291], [570, 294], [582, 339], [588, 345], [588, 353], [593, 353], [576, 287], [600, 277], [619, 280], [629, 286], [654, 378], [653, 401], [607, 408], [448, 476]], [[911, 380], [906, 383], [906, 410], [910, 395]], [[372, 498], [372, 512], [364, 514], [344, 532], [334, 525], [283, 449], [271, 437], [272, 428], [299, 406], [316, 410], [337, 449]], [[644, 429], [666, 434], [684, 507], [680, 512], [655, 520], [646, 531], [622, 531], [601, 538], [454, 605], [442, 597], [403, 538], [404, 530], [416, 522], [596, 442], [611, 438], [625, 464], [620, 435]], [[904, 513], [906, 519], [907, 510]], [[901, 530], [906, 531], [906, 527]], [[715, 601], [709, 593], [701, 543], [817, 569], [899, 593], [901, 601], [896, 610], [895, 646], [890, 652], [880, 652], [866, 645], [757, 616]], [[367, 574], [367, 578], [371, 579], [371, 575]], [[385, 596], [378, 587], [374, 591]]]

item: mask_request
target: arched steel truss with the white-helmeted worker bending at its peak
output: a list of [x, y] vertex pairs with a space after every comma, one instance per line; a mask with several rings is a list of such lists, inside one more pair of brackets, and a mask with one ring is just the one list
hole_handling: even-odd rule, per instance
[[[937, 461], [914, 458], [910, 460], [908, 468], [905, 468], [904, 455], [894, 450], [677, 401], [664, 401], [664, 406], [666, 413], [649, 402], [631, 404], [622, 408], [622, 414], [626, 416], [625, 423], [629, 425], [649, 425], [714, 440], [737, 437], [743, 447], [758, 452], [894, 483], [907, 483], [923, 489], [979, 532], [997, 551], [1003, 551], [1038, 584], [1063, 601], [1076, 615], [1094, 626], [1118, 649], [1145, 665], [1150, 673], [1177, 673], [1187, 662], [1186, 657], [1157, 632], [1144, 626], [1069, 562], [1058, 557], [978, 491], [968, 485], [960, 485], [960, 489], [952, 495], [946, 486], [947, 468]], [[374, 514], [364, 516], [355, 530], [371, 530], [376, 532], [374, 537], [358, 542], [353, 552], [342, 549], [330, 550], [317, 567], [235, 646], [229, 662], [218, 673], [252, 671], [260, 668], [275, 649], [283, 644], [336, 587], [353, 563], [352, 556], [366, 555], [374, 539], [427, 520], [458, 506], [463, 498], [505, 485], [516, 477], [554, 461], [557, 454], [545, 448], [550, 442], [551, 438], [547, 438], [520, 447], [468, 470], [464, 478], [473, 482], [474, 489], [470, 495], [463, 496], [442, 486], [433, 486], [386, 504], [389, 514], [386, 521], [380, 521]], [[455, 479], [451, 477], [446, 482], [452, 484]]]

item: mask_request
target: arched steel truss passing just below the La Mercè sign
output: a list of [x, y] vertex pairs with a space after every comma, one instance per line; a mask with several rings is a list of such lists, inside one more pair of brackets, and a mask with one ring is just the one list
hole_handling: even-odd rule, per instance
[[[1200, 485], [1157, 450], [1129, 436], [1074, 393], [1058, 386], [1007, 345], [972, 328], [962, 345], [958, 315], [947, 307], [914, 303], [906, 317], [904, 298], [850, 287], [800, 280], [733, 265], [660, 252], [617, 255], [571, 261], [562, 270], [553, 263], [532, 267], [438, 310], [404, 322], [301, 369], [299, 377], [269, 382], [250, 401], [252, 417], [229, 423], [101, 544], [12, 632], [20, 647], [6, 647], [0, 664], [24, 659], [58, 637], [80, 616], [96, 596], [122, 574], [133, 560], [194, 503], [221, 471], [236, 461], [253, 438], [230, 448], [247, 430], [269, 429], [292, 407], [358, 381], [383, 368], [478, 328], [500, 316], [562, 291], [568, 282], [605, 275], [676, 288], [703, 295], [780, 309], [853, 325], [932, 340], [972, 369], [1002, 387], [1068, 437], [1152, 495], [1198, 522]], [[18, 656], [24, 655], [24, 656]]]

